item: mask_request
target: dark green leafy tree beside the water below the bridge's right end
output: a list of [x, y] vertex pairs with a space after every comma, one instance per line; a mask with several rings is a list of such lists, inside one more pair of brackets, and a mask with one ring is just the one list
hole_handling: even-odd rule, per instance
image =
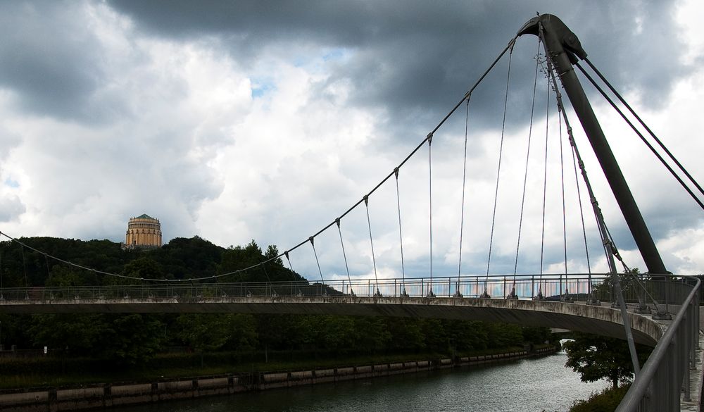
[[[574, 332], [573, 337], [562, 345], [567, 351], [565, 366], [579, 372], [582, 382], [608, 379], [617, 388], [620, 382], [631, 380], [633, 363], [626, 341], [582, 332]], [[644, 363], [650, 350], [641, 345], [636, 350]]]

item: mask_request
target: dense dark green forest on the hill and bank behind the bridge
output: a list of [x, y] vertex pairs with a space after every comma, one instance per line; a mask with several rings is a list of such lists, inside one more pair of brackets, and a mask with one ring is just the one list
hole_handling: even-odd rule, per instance
[[[279, 254], [256, 242], [222, 248], [205, 239], [176, 238], [161, 249], [123, 250], [108, 240], [51, 237], [20, 239], [31, 248], [80, 266], [144, 278], [210, 277], [248, 268]], [[125, 279], [56, 261], [18, 242], [0, 242], [2, 287], [112, 285]], [[303, 280], [280, 259], [265, 268], [219, 278], [219, 282]], [[0, 343], [7, 349], [49, 347], [62, 356], [89, 356], [115, 365], [142, 363], [168, 351], [206, 354], [307, 353], [458, 354], [521, 347], [549, 339], [546, 328], [460, 320], [249, 314], [0, 313]]]

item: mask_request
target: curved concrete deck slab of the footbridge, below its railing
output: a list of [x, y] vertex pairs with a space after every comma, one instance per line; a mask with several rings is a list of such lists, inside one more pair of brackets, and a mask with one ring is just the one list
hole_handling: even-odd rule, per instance
[[[0, 301], [5, 313], [294, 313], [485, 320], [558, 327], [624, 337], [608, 304], [453, 297], [250, 296], [208, 298], [51, 299]], [[629, 313], [636, 342], [655, 346], [667, 322]]]

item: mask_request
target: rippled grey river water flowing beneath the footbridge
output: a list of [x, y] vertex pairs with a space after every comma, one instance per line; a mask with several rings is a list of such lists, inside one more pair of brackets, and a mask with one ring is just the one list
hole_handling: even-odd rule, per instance
[[115, 408], [115, 412], [567, 411], [610, 384], [584, 383], [564, 352], [474, 368]]

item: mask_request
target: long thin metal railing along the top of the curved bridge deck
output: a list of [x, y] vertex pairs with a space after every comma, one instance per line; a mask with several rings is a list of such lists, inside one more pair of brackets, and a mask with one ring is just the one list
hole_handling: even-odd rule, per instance
[[[621, 281], [627, 302], [642, 306], [681, 304], [691, 287], [675, 278], [632, 277]], [[140, 285], [84, 287], [28, 287], [0, 289], [0, 301], [52, 301], [65, 299], [218, 299], [246, 296], [415, 296], [547, 299], [563, 301], [615, 301], [607, 274], [489, 275], [413, 277], [382, 280], [327, 280], [322, 282], [142, 282]], [[590, 295], [591, 294], [591, 295]]]

